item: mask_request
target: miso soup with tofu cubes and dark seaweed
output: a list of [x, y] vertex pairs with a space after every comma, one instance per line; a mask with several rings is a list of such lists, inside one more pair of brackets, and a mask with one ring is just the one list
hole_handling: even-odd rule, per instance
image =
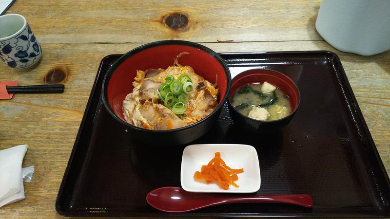
[[257, 120], [277, 120], [292, 109], [288, 95], [268, 83], [247, 84], [234, 93], [232, 105], [241, 114]]

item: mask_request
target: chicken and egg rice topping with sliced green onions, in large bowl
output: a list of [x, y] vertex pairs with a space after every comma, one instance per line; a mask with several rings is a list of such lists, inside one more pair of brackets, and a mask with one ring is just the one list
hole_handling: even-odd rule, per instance
[[167, 69], [137, 71], [133, 92], [123, 100], [125, 120], [134, 126], [165, 130], [194, 124], [218, 106], [216, 83], [178, 63]]

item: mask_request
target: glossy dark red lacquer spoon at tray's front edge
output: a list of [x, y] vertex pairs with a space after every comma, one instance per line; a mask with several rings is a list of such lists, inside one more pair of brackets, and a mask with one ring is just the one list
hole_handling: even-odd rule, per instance
[[299, 195], [227, 195], [216, 193], [187, 192], [179, 187], [157, 188], [146, 196], [146, 201], [154, 208], [166, 212], [187, 212], [199, 208], [232, 203], [273, 202], [312, 207], [312, 197]]

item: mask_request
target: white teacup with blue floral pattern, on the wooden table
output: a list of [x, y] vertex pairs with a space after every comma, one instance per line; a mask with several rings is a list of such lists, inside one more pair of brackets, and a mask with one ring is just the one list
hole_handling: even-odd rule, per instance
[[0, 16], [0, 59], [11, 68], [27, 69], [42, 55], [26, 18], [18, 14]]

